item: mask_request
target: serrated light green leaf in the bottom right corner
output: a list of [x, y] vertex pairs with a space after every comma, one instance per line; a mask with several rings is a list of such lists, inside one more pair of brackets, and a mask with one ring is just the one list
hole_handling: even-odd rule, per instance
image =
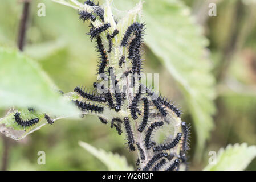
[[247, 143], [229, 144], [226, 149], [221, 148], [217, 154], [217, 163], [205, 167], [205, 171], [241, 171], [244, 170], [256, 156], [256, 146]]

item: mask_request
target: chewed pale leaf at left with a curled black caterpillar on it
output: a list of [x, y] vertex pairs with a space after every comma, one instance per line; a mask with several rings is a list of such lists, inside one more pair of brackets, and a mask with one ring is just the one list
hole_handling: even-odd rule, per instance
[[[78, 94], [75, 92], [66, 93], [62, 97], [64, 98], [64, 100], [67, 100], [70, 102], [73, 102], [74, 100], [78, 100], [79, 98]], [[89, 103], [87, 100], [84, 100], [84, 102]], [[95, 104], [95, 103], [91, 102], [91, 105], [92, 104]], [[91, 110], [83, 110], [83, 111], [81, 110], [79, 111], [78, 109], [76, 110], [79, 114], [96, 115], [99, 117], [104, 117], [108, 120], [111, 119], [109, 115], [115, 115], [116, 113], [109, 110], [107, 107], [105, 107], [104, 113], [100, 113], [100, 114], [96, 113], [95, 111], [92, 112]], [[32, 119], [36, 119], [36, 122], [33, 123], [31, 126], [26, 126], [26, 127], [22, 126], [15, 119], [15, 114], [17, 113], [19, 113], [19, 118], [21, 118], [23, 122], [27, 122]], [[48, 116], [49, 121], [47, 121], [46, 116]], [[67, 116], [65, 114], [60, 115], [59, 117], [56, 117], [54, 114], [42, 113], [36, 108], [32, 108], [32, 107], [29, 109], [12, 108], [8, 111], [5, 117], [0, 118], [0, 133], [5, 134], [7, 137], [13, 138], [14, 140], [21, 140], [25, 138], [27, 135], [29, 135], [30, 133], [36, 130], [39, 130], [42, 126], [47, 125], [48, 123], [52, 124], [53, 122], [66, 117]], [[75, 115], [73, 115], [72, 117], [75, 117]]]

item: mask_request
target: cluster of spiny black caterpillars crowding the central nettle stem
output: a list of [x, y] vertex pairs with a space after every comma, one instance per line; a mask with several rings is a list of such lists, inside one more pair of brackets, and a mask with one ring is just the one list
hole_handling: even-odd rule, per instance
[[[91, 23], [91, 29], [87, 33], [87, 35], [90, 35], [91, 40], [95, 40], [96, 50], [99, 53], [97, 74], [100, 75], [102, 80], [105, 78], [113, 80], [112, 84], [115, 89], [111, 92], [108, 86], [103, 85], [101, 82], [94, 82], [93, 86], [95, 89], [100, 88], [104, 91], [101, 94], [96, 94], [91, 91], [88, 92], [88, 90], [85, 91], [82, 87], [78, 86], [74, 89], [74, 92], [78, 93], [83, 100], [76, 100], [74, 103], [82, 111], [91, 111], [99, 114], [103, 113], [104, 106], [116, 112], [129, 110], [130, 114], [126, 117], [115, 117], [111, 121], [107, 121], [103, 115], [100, 115], [99, 119], [104, 124], [110, 122], [111, 128], [115, 128], [119, 135], [125, 131], [128, 148], [130, 151], [138, 151], [139, 158], [136, 164], [139, 165], [140, 162], [144, 162], [143, 170], [178, 170], [180, 164], [186, 164], [187, 162], [186, 152], [189, 149], [189, 126], [185, 122], [181, 122], [181, 130], [172, 136], [172, 140], [160, 144], [154, 141], [152, 133], [167, 124], [165, 118], [168, 117], [170, 112], [173, 113], [174, 117], [178, 118], [181, 115], [181, 111], [165, 97], [153, 92], [143, 84], [139, 83], [136, 86], [135, 77], [132, 77], [130, 81], [132, 88], [136, 92], [132, 96], [132, 101], [128, 102], [129, 105], [125, 106], [124, 101], [127, 100], [127, 90], [121, 90], [119, 88], [121, 78], [115, 75], [115, 69], [121, 69], [126, 78], [130, 74], [141, 75], [141, 44], [143, 43], [145, 24], [135, 22], [131, 26], [128, 26], [124, 34], [118, 36], [119, 38], [121, 37], [121, 41], [119, 41], [119, 45], [116, 45], [117, 41], [113, 42], [113, 39], [117, 39], [116, 36], [120, 32], [117, 29], [113, 30], [111, 23], [105, 22], [104, 10], [90, 0], [87, 0], [84, 4], [92, 6], [93, 11], [90, 13], [87, 10], [79, 11], [79, 19], [82, 22], [86, 22], [87, 20], [90, 22], [99, 20], [101, 22], [101, 25], [98, 27], [94, 27]], [[115, 23], [117, 24], [118, 22]], [[108, 44], [105, 44], [105, 42]], [[119, 48], [119, 50], [125, 50], [119, 53], [118, 65], [111, 65], [109, 63], [109, 56], [115, 50], [114, 47]], [[116, 54], [116, 52], [114, 53]], [[123, 69], [124, 64], [127, 70]], [[101, 76], [101, 74], [107, 76]], [[120, 92], [120, 90], [123, 92]], [[156, 121], [156, 116], [160, 118], [160, 121]], [[138, 126], [136, 133], [139, 132], [142, 134], [144, 137], [143, 142], [136, 141], [133, 123], [138, 124], [135, 125]], [[178, 148], [178, 154], [171, 152], [174, 148]], [[147, 159], [146, 151], [148, 152], [149, 150], [151, 152], [151, 158]]]

